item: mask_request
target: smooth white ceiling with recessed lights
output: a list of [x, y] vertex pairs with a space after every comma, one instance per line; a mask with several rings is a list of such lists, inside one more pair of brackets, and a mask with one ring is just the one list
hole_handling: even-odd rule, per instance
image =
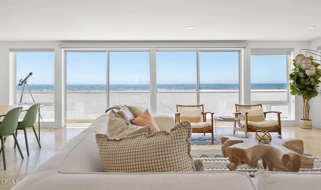
[[0, 0], [0, 41], [317, 38], [320, 0]]

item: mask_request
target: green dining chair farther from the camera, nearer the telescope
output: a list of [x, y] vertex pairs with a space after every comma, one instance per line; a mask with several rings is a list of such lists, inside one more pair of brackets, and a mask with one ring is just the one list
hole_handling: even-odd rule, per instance
[[[16, 136], [18, 135], [18, 130], [24, 130], [24, 132], [25, 132], [25, 139], [26, 139], [26, 147], [27, 147], [28, 156], [29, 156], [29, 147], [28, 147], [28, 138], [27, 138], [27, 129], [28, 128], [32, 127], [32, 129], [34, 130], [39, 147], [41, 148], [40, 141], [39, 141], [39, 138], [38, 138], [35, 126], [34, 126], [36, 119], [37, 119], [39, 106], [40, 106], [40, 104], [32, 105], [27, 110], [27, 113], [26, 113], [24, 119], [18, 123], [18, 127], [16, 129]], [[16, 148], [16, 145], [15, 145], [15, 148]]]

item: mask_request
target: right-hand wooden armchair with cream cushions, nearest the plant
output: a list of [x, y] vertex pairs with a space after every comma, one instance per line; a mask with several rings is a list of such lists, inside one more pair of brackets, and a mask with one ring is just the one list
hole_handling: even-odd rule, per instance
[[[235, 117], [239, 118], [239, 127], [245, 128], [245, 136], [247, 132], [256, 132], [258, 129], [264, 129], [268, 132], [277, 132], [281, 135], [281, 120], [279, 111], [263, 112], [262, 104], [240, 105], [235, 104]], [[267, 113], [277, 114], [276, 120], [265, 120]], [[235, 134], [235, 131], [233, 131]]]

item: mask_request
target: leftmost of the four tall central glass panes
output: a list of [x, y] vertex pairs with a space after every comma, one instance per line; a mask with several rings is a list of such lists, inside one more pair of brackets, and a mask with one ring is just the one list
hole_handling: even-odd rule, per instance
[[106, 52], [66, 53], [67, 122], [91, 122], [106, 109]]

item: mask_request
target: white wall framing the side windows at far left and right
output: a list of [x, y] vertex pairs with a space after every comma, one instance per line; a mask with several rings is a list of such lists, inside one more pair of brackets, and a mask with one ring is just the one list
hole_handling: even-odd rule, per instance
[[[50, 124], [50, 126], [61, 127], [64, 124], [64, 81], [63, 81], [63, 63], [62, 63], [62, 50], [59, 47], [60, 42], [0, 42], [0, 104], [8, 105], [12, 104], [13, 100], [11, 98], [10, 91], [12, 92], [13, 86], [10, 86], [10, 80], [12, 80], [10, 73], [12, 66], [9, 64], [9, 50], [10, 49], [40, 49], [40, 48], [52, 48], [55, 51], [55, 123]], [[115, 43], [115, 42], [114, 42]], [[156, 42], [155, 42], [156, 43]], [[117, 44], [117, 43], [116, 43]], [[121, 44], [121, 43], [120, 43]], [[164, 46], [164, 43], [160, 43]], [[169, 44], [171, 44], [169, 42]], [[177, 43], [176, 43], [177, 44]], [[316, 46], [321, 45], [321, 39], [309, 42], [279, 42], [279, 41], [249, 41], [248, 47], [244, 51], [244, 70], [248, 70], [248, 75], [244, 77], [244, 87], [245, 89], [250, 89], [250, 49], [251, 48], [294, 48], [293, 59], [299, 53], [300, 49], [314, 49]], [[271, 74], [273, 76], [273, 74]], [[13, 83], [12, 83], [13, 84]], [[246, 86], [247, 85], [247, 86]], [[245, 103], [250, 102], [250, 93], [245, 93], [243, 101]], [[292, 103], [295, 102], [295, 108], [293, 111], [295, 113], [295, 120], [282, 121], [284, 126], [298, 126], [299, 119], [302, 115], [302, 101], [301, 97], [292, 97]], [[313, 105], [321, 105], [321, 95], [311, 100], [311, 111], [310, 118], [313, 120], [313, 127], [321, 128], [321, 117], [318, 117], [317, 107]], [[47, 124], [46, 124], [47, 125]], [[49, 126], [49, 127], [50, 127]]]

